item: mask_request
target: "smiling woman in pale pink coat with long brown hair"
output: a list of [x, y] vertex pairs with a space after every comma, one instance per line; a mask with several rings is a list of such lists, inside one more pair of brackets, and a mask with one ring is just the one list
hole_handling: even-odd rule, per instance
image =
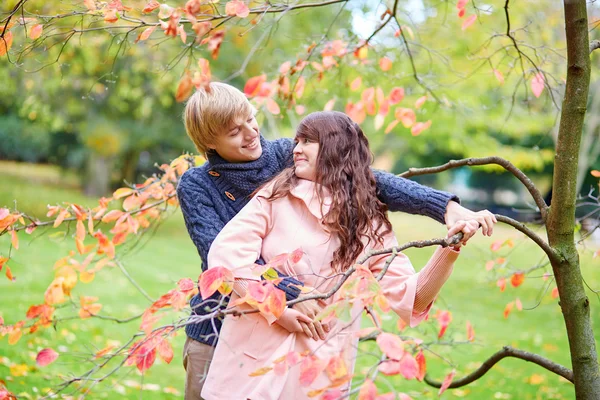
[[[386, 207], [377, 199], [370, 169], [372, 156], [360, 127], [343, 113], [313, 113], [300, 123], [296, 143], [294, 166], [258, 191], [210, 248], [208, 267], [224, 266], [234, 273], [232, 301], [243, 297], [248, 281], [259, 279], [252, 272], [259, 256], [268, 262], [300, 248], [302, 259], [283, 266], [281, 272], [325, 293], [366, 250], [397, 244]], [[464, 225], [452, 227], [449, 236]], [[455, 249], [439, 248], [419, 274], [403, 254], [389, 265], [380, 285], [392, 309], [405, 322], [415, 326], [425, 318], [457, 256]], [[376, 276], [386, 258], [372, 257], [365, 266]], [[330, 304], [338, 295], [326, 302]], [[247, 304], [238, 307], [250, 308]], [[343, 351], [351, 371], [358, 340], [353, 332], [360, 329], [362, 308], [355, 302], [351, 322], [332, 323], [324, 342], [303, 333], [302, 323], [310, 320], [291, 308], [286, 308], [279, 319], [258, 313], [227, 315], [202, 397], [308, 398], [310, 390], [329, 384], [324, 374], [309, 387], [301, 387], [298, 366], [283, 375], [249, 374], [292, 351], [309, 351], [324, 360]]]

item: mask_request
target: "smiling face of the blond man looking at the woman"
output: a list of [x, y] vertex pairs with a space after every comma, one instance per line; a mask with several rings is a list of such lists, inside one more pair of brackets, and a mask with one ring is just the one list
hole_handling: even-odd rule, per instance
[[254, 161], [262, 154], [254, 112], [235, 118], [208, 146], [231, 163]]

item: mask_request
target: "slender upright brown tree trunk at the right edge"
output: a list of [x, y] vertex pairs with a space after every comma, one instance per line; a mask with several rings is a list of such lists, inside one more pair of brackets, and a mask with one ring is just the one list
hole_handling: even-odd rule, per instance
[[552, 268], [560, 296], [571, 352], [575, 396], [598, 399], [600, 371], [575, 247], [575, 200], [581, 134], [590, 85], [588, 20], [585, 0], [564, 0], [567, 33], [567, 85], [560, 118], [554, 162], [552, 203], [548, 214], [548, 241], [560, 261]]

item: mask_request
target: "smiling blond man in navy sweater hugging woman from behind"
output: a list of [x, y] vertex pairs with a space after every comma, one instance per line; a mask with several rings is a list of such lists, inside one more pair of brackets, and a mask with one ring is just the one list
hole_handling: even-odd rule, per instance
[[[179, 182], [177, 194], [190, 237], [206, 268], [211, 243], [217, 234], [249, 201], [249, 196], [264, 182], [291, 165], [293, 142], [268, 141], [259, 132], [255, 110], [243, 93], [223, 83], [211, 83], [207, 90], [194, 93], [186, 104], [186, 131], [198, 151], [208, 161], [187, 171]], [[378, 196], [391, 211], [426, 215], [447, 226], [467, 221], [465, 240], [482, 227], [491, 235], [496, 222], [488, 211], [472, 212], [458, 204], [456, 196], [382, 171], [374, 171]], [[260, 254], [257, 254], [257, 259]], [[260, 260], [259, 260], [260, 262]], [[288, 300], [298, 297], [301, 283], [282, 276], [278, 287]], [[206, 315], [220, 299], [192, 299], [195, 314]], [[320, 311], [315, 301], [298, 303], [294, 309], [310, 320]], [[186, 326], [184, 346], [186, 399], [200, 399], [204, 376], [212, 358], [220, 320], [206, 320]], [[327, 326], [318, 321], [302, 325], [307, 336], [324, 339]]]

